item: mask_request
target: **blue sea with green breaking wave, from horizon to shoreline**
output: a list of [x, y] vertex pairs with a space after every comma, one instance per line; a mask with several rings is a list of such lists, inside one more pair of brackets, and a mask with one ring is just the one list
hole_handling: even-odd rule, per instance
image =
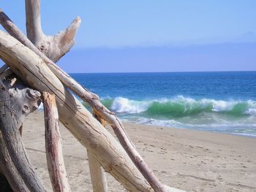
[[256, 137], [256, 72], [70, 75], [122, 120]]

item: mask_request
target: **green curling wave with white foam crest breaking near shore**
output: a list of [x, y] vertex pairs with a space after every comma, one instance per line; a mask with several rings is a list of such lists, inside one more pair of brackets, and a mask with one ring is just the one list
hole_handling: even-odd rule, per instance
[[215, 99], [192, 99], [176, 96], [173, 99], [130, 100], [124, 97], [102, 99], [110, 110], [124, 114], [158, 115], [182, 118], [203, 112], [256, 117], [256, 101], [222, 101]]

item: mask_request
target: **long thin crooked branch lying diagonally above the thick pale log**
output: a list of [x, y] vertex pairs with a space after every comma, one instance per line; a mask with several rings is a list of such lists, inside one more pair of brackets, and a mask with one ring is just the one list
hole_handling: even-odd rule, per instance
[[[13, 28], [13, 25], [14, 24], [12, 23], [12, 27], [7, 26], [6, 30], [13, 31], [10, 30], [10, 28]], [[17, 28], [15, 29], [15, 31], [18, 31]], [[157, 179], [154, 173], [151, 172], [151, 170], [146, 165], [146, 162], [135, 149], [135, 146], [132, 144], [131, 139], [129, 139], [126, 131], [124, 130], [124, 126], [122, 125], [121, 120], [117, 118], [116, 114], [110, 112], [110, 110], [108, 110], [103, 104], [101, 104], [98, 96], [83, 88], [78, 82], [73, 80], [71, 77], [69, 77], [68, 74], [66, 74], [58, 66], [56, 66], [56, 64], [50, 61], [49, 58], [45, 57], [45, 55], [42, 55], [42, 53], [38, 53], [38, 51], [35, 50], [35, 47], [27, 41], [26, 37], [22, 34], [21, 31], [16, 32], [14, 34], [14, 37], [20, 40], [20, 42], [23, 42], [23, 44], [27, 47], [31, 48], [31, 50], [33, 50], [35, 53], [37, 53], [46, 62], [46, 64], [48, 64], [49, 68], [53, 71], [54, 74], [56, 74], [59, 80], [61, 80], [61, 82], [63, 82], [64, 85], [67, 86], [67, 88], [70, 88], [75, 94], [80, 96], [83, 101], [88, 102], [98, 115], [100, 115], [103, 119], [110, 123], [116, 133], [116, 136], [121, 142], [121, 145], [124, 146], [124, 149], [127, 151], [129, 157], [132, 159], [134, 164], [146, 178], [148, 183], [150, 183], [152, 188], [154, 188], [155, 191], [166, 191], [166, 187], [164, 188], [164, 185], [162, 185], [162, 183]]]

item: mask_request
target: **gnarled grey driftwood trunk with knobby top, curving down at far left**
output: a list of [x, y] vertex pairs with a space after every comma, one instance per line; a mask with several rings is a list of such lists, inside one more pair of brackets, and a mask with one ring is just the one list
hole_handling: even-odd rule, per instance
[[[28, 191], [28, 189], [29, 191], [45, 191], [31, 165], [18, 130], [23, 123], [22, 116], [34, 111], [40, 94], [28, 88], [25, 91], [13, 89], [15, 91], [8, 91], [4, 83], [0, 81], [1, 170], [4, 171], [8, 182], [13, 184], [11, 187], [14, 191]], [[30, 96], [28, 96], [28, 91], [32, 93]], [[26, 103], [29, 98], [30, 104], [28, 105], [21, 104], [19, 101]], [[19, 117], [20, 112], [24, 115]], [[5, 164], [4, 161], [8, 163]]]

